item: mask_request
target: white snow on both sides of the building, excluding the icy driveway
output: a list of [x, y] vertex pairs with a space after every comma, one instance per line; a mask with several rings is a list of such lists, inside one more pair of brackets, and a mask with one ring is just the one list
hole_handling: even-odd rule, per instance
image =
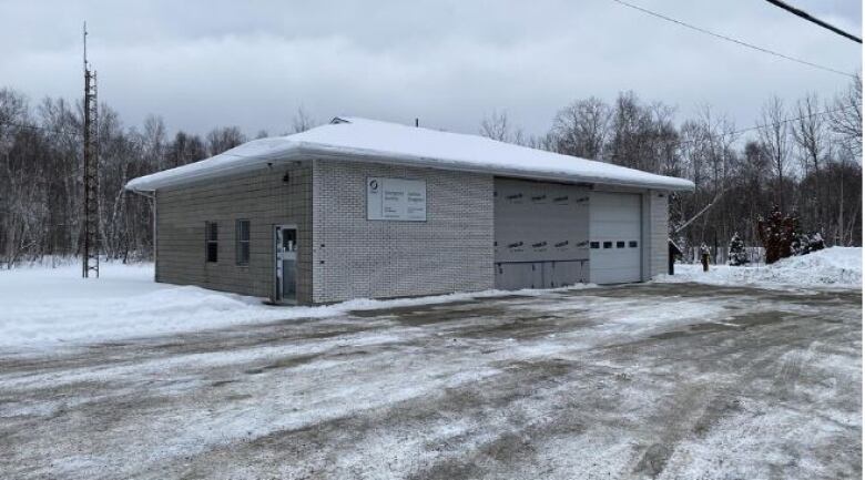
[[[696, 282], [762, 288], [862, 288], [862, 248], [827, 248], [757, 267], [676, 265], [658, 283]], [[582, 288], [586, 286], [574, 287]], [[522, 290], [540, 295], [542, 290]], [[324, 318], [356, 309], [447, 303], [502, 292], [426, 298], [358, 299], [322, 307], [273, 307], [258, 298], [153, 282], [152, 264], [103, 263], [100, 278], [80, 266], [37, 265], [0, 270], [0, 350], [17, 351], [197, 331], [235, 325]]]

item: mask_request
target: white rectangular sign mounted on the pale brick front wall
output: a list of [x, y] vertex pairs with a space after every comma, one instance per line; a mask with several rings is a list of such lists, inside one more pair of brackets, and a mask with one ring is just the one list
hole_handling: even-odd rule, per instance
[[366, 218], [401, 222], [427, 221], [427, 182], [424, 180], [366, 180]]

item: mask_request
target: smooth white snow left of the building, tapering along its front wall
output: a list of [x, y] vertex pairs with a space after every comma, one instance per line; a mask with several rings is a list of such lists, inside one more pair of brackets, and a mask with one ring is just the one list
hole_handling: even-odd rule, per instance
[[[157, 284], [153, 282], [152, 264], [103, 263], [100, 274], [100, 278], [81, 278], [77, 263], [0, 270], [0, 349], [23, 351], [502, 295], [489, 290], [394, 300], [357, 299], [319, 307], [275, 307], [255, 297]], [[541, 292], [545, 290], [521, 293]]]

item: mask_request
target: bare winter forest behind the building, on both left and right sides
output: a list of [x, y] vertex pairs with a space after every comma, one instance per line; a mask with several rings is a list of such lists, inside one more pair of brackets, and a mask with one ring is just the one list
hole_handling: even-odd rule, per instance
[[[737, 129], [709, 106], [676, 122], [676, 109], [622, 92], [612, 103], [576, 100], [549, 132], [525, 135], [506, 113], [482, 119], [480, 133], [505, 142], [690, 178], [693, 193], [671, 197], [671, 236], [683, 245], [726, 245], [734, 233], [759, 242], [757, 222], [773, 205], [796, 212], [802, 227], [828, 245], [862, 244], [862, 83], [832, 99], [793, 104], [777, 98], [756, 126]], [[45, 98], [35, 104], [0, 89], [0, 262], [12, 266], [47, 255], [79, 253], [82, 218], [80, 103]], [[303, 109], [286, 132], [316, 124]], [[253, 137], [267, 136], [257, 132]], [[169, 133], [160, 116], [125, 126], [99, 106], [101, 251], [109, 258], [151, 256], [152, 205], [123, 190], [136, 176], [184, 165], [240, 145], [237, 126], [205, 135]], [[705, 213], [693, 217], [709, 204]], [[682, 227], [692, 221], [688, 226]]]

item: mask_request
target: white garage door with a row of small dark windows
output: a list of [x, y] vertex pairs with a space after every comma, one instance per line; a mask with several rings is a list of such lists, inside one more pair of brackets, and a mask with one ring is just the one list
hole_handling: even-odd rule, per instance
[[641, 280], [641, 196], [592, 192], [589, 224], [589, 268], [596, 284]]

